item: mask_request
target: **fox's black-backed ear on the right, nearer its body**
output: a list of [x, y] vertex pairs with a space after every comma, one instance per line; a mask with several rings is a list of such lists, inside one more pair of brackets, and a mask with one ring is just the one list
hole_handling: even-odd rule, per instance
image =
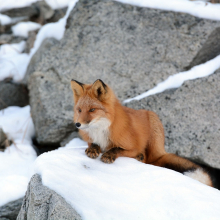
[[92, 85], [92, 91], [97, 99], [103, 101], [108, 92], [107, 85], [101, 79], [97, 79]]

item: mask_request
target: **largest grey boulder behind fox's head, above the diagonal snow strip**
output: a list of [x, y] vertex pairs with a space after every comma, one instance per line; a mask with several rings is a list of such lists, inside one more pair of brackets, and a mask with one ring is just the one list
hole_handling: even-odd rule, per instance
[[[33, 56], [26, 73], [26, 82], [34, 72], [41, 72], [47, 84], [52, 85], [50, 92], [46, 92], [46, 87], [38, 89], [44, 83], [41, 75], [35, 74], [29, 80], [29, 86], [38, 89], [38, 93], [30, 95], [32, 105], [37, 100], [44, 103], [44, 108], [32, 106], [39, 135], [37, 140], [51, 142], [51, 138], [44, 135], [45, 130], [59, 135], [58, 117], [62, 130], [69, 126], [67, 117], [70, 121], [72, 115], [69, 112], [67, 116], [65, 109], [71, 111], [73, 105], [71, 79], [92, 83], [101, 78], [114, 89], [120, 100], [136, 96], [169, 75], [185, 70], [193, 60], [196, 60], [193, 64], [203, 62], [201, 51], [206, 51], [205, 60], [219, 53], [218, 46], [212, 47], [215, 38], [212, 33], [219, 33], [219, 27], [220, 22], [183, 13], [140, 8], [115, 1], [79, 1], [69, 16], [63, 39], [50, 46], [47, 44], [46, 48], [43, 48], [45, 44], [42, 45], [41, 53]], [[204, 45], [209, 45], [210, 50], [204, 49]], [[44, 117], [39, 114], [40, 110], [45, 111]], [[51, 123], [45, 124], [49, 114]]]

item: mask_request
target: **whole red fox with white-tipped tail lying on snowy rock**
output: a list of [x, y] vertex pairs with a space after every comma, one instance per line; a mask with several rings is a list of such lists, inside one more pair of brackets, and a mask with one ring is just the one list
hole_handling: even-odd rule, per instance
[[131, 157], [213, 185], [209, 174], [200, 166], [165, 151], [164, 128], [156, 113], [121, 105], [112, 89], [100, 79], [93, 84], [72, 80], [71, 88], [74, 122], [88, 143], [85, 151], [88, 157], [97, 158], [103, 153], [104, 163]]

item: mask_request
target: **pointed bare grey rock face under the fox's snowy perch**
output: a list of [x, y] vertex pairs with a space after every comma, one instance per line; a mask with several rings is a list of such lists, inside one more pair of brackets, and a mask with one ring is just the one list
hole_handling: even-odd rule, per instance
[[78, 213], [63, 197], [42, 185], [35, 174], [28, 185], [17, 220], [81, 220]]

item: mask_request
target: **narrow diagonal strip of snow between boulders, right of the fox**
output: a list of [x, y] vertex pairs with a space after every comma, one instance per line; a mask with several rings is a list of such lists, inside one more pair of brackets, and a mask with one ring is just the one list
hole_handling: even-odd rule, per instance
[[147, 92], [144, 92], [134, 98], [126, 99], [124, 100], [124, 103], [133, 100], [140, 100], [147, 96], [155, 95], [157, 93], [163, 92], [167, 89], [178, 88], [185, 81], [209, 76], [212, 73], [214, 73], [218, 68], [220, 68], [220, 55], [210, 61], [207, 61], [204, 64], [200, 64], [198, 66], [193, 67], [189, 71], [180, 72], [172, 76], [169, 76], [165, 81], [159, 83], [153, 89], [150, 89]]

